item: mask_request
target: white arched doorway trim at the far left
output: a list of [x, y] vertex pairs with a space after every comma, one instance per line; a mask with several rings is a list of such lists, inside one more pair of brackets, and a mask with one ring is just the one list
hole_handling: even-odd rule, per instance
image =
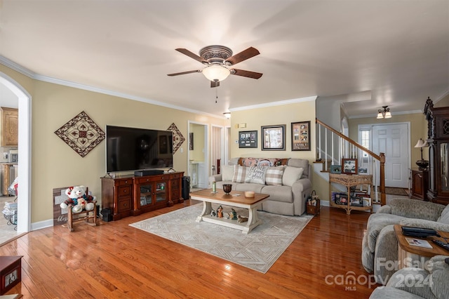
[[0, 84], [9, 88], [19, 100], [19, 145], [20, 160], [18, 163], [18, 234], [29, 232], [31, 227], [31, 117], [32, 97], [7, 74], [0, 72]]

